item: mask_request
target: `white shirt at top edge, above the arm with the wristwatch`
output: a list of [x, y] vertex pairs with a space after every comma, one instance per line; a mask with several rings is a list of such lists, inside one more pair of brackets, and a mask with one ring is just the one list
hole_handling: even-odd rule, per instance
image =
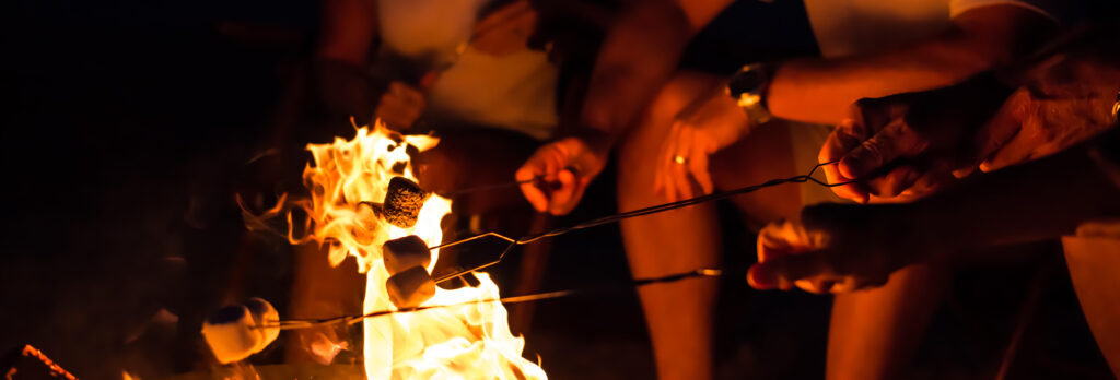
[[932, 37], [953, 17], [981, 7], [1010, 4], [1055, 18], [1062, 1], [1073, 0], [804, 0], [816, 44], [830, 58]]

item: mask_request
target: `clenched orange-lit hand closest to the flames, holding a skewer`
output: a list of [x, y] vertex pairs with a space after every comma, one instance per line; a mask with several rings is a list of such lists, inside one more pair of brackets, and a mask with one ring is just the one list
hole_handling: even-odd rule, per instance
[[[606, 164], [608, 149], [584, 139], [566, 137], [545, 144], [517, 169], [521, 192], [540, 212], [567, 215], [584, 197], [584, 190]], [[542, 189], [541, 183], [556, 183]]]

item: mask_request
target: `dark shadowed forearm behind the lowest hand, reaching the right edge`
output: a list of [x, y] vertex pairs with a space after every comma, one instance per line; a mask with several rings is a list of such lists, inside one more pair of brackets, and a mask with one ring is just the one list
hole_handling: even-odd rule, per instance
[[1072, 149], [900, 206], [918, 226], [909, 232], [925, 245], [960, 251], [1054, 238], [1084, 221], [1120, 215], [1120, 188], [1089, 152]]

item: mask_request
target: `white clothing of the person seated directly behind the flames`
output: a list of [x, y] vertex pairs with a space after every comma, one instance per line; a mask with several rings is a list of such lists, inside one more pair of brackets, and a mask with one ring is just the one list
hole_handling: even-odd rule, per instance
[[426, 113], [436, 120], [548, 139], [557, 125], [557, 70], [548, 56], [529, 49], [492, 56], [468, 47], [489, 1], [380, 0], [382, 44], [405, 57], [450, 64], [428, 93]]

